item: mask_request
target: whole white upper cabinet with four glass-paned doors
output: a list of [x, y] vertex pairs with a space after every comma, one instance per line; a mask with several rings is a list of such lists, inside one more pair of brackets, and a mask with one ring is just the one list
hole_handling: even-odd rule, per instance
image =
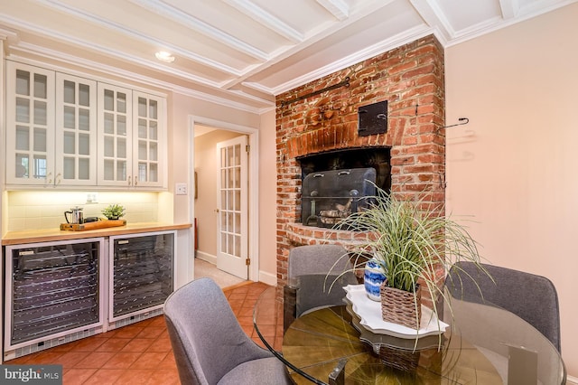
[[163, 97], [6, 61], [6, 183], [165, 188], [165, 121]]

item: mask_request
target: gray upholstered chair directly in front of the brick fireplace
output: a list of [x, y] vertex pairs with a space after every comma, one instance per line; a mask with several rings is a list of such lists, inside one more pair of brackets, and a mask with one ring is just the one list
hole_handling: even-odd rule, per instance
[[347, 250], [338, 245], [308, 245], [291, 249], [287, 271], [289, 282], [284, 287], [284, 329], [296, 317], [314, 309], [344, 305], [342, 286], [358, 284], [351, 268]]

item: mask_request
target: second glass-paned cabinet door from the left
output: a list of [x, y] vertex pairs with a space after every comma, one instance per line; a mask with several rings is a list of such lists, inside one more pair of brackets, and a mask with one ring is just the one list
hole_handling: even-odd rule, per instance
[[56, 184], [97, 183], [97, 82], [56, 74]]

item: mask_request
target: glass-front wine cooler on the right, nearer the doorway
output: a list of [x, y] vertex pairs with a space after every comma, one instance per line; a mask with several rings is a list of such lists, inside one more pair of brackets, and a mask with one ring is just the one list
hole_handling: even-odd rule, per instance
[[163, 314], [172, 293], [176, 231], [109, 238], [108, 328]]

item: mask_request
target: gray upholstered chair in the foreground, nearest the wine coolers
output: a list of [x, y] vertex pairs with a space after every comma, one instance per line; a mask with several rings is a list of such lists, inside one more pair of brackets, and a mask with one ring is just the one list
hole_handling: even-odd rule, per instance
[[212, 279], [177, 289], [164, 317], [183, 385], [292, 383], [284, 364], [243, 332]]

